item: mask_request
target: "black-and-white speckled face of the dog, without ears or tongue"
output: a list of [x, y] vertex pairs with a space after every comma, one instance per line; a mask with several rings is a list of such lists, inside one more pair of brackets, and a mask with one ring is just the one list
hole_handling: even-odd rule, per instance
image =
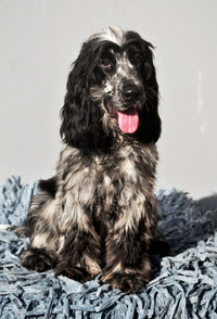
[[144, 103], [142, 56], [136, 46], [122, 49], [112, 44], [103, 50], [94, 68], [95, 86], [91, 95], [104, 100], [107, 109], [129, 112]]

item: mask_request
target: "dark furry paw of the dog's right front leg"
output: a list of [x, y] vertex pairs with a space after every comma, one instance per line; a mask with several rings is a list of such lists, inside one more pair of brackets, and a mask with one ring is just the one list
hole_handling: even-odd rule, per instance
[[128, 294], [138, 294], [142, 292], [145, 284], [149, 282], [149, 278], [137, 273], [111, 273], [105, 272], [101, 279], [104, 283], [110, 283], [113, 289], [119, 289]]

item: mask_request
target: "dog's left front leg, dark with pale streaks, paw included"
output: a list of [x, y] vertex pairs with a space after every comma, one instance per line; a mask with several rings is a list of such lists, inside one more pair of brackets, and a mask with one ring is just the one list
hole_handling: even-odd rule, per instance
[[74, 219], [71, 228], [64, 226], [66, 233], [55, 273], [85, 282], [101, 272], [101, 241], [85, 208], [74, 203], [73, 209], [77, 213], [77, 220]]

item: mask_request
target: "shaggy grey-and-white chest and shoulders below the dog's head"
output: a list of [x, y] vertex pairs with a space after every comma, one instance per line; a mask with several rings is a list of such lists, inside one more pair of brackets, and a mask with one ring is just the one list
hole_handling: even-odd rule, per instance
[[68, 214], [80, 207], [95, 220], [115, 219], [122, 206], [139, 195], [138, 189], [145, 192], [146, 181], [151, 180], [148, 175], [155, 169], [155, 155], [152, 149], [143, 152], [126, 146], [106, 156], [72, 161], [64, 179], [64, 207]]

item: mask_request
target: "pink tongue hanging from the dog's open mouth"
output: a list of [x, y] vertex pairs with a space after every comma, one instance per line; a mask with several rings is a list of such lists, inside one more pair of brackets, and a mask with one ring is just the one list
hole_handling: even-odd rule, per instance
[[132, 111], [128, 114], [117, 112], [118, 116], [118, 126], [125, 133], [133, 133], [138, 129], [139, 125], [139, 115], [136, 111]]

